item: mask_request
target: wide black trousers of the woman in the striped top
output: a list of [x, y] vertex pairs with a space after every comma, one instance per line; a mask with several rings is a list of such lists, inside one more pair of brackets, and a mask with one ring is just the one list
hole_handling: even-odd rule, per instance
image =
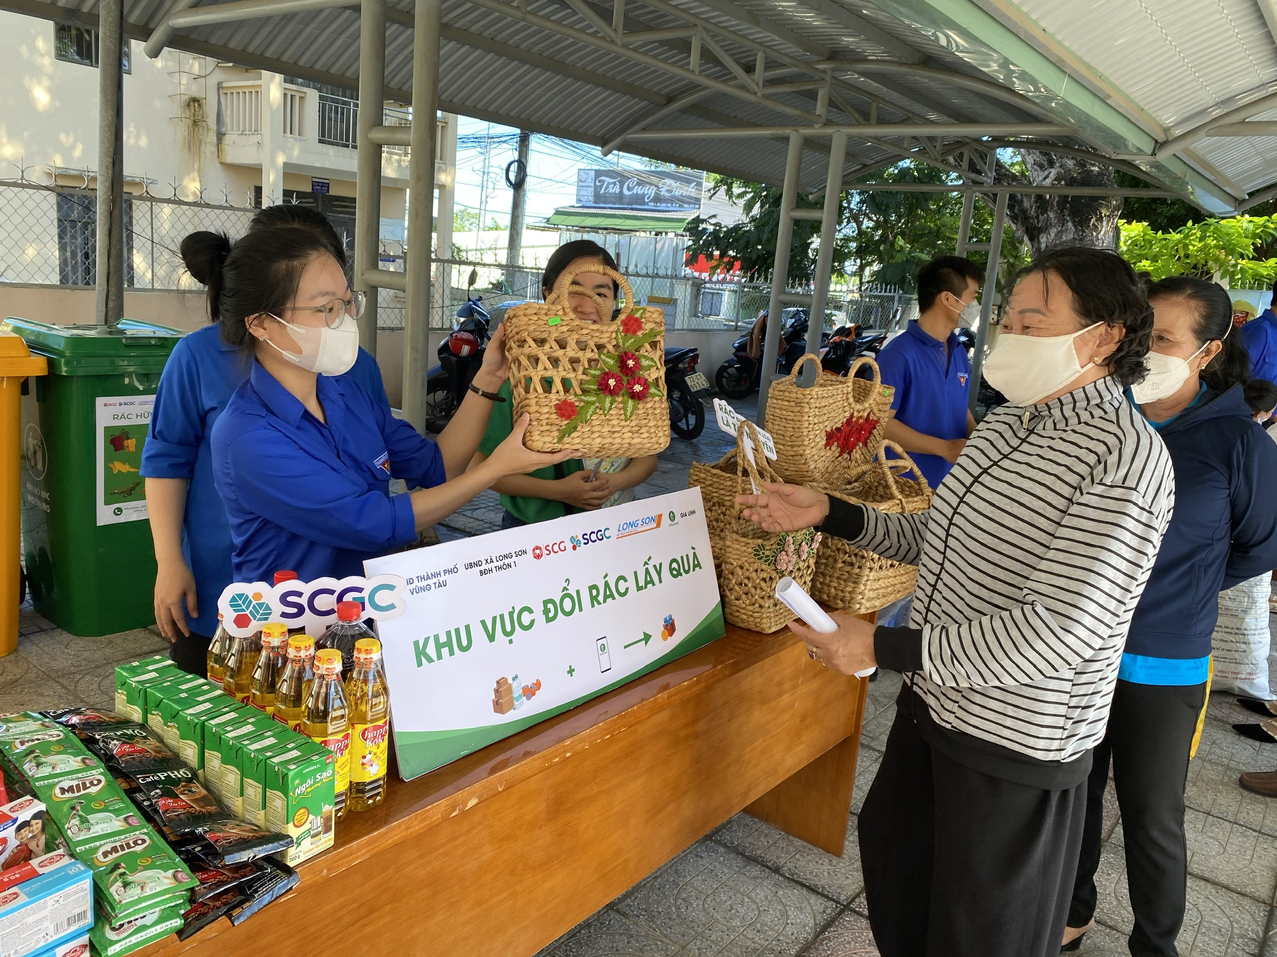
[[982, 775], [896, 713], [859, 818], [882, 957], [1055, 957], [1082, 841], [1085, 782], [1066, 791]]

